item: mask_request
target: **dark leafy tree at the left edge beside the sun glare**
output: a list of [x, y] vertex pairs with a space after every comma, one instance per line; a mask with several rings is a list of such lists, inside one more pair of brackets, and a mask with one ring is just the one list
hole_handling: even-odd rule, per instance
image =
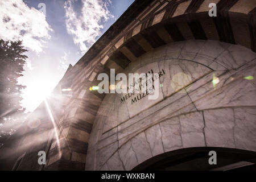
[[[27, 59], [24, 52], [27, 50], [23, 48], [22, 41], [0, 39], [0, 126], [24, 116], [25, 109], [20, 106], [20, 101], [21, 92], [26, 86], [18, 84]], [[7, 133], [11, 134], [10, 131]]]

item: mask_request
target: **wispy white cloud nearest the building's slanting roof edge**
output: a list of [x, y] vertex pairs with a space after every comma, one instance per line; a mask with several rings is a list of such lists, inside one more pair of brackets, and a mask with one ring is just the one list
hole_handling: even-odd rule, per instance
[[96, 42], [96, 37], [101, 35], [104, 22], [114, 16], [110, 14], [108, 5], [111, 1], [81, 0], [81, 14], [75, 13], [72, 3], [75, 0], [65, 2], [65, 22], [68, 34], [73, 36], [73, 41], [85, 53], [89, 46]]

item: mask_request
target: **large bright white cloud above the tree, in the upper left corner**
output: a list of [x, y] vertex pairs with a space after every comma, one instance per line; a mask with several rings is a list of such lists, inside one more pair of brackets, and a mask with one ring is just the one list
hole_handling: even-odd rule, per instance
[[41, 52], [53, 31], [46, 16], [22, 0], [0, 1], [0, 7], [0, 38], [23, 40], [24, 47]]

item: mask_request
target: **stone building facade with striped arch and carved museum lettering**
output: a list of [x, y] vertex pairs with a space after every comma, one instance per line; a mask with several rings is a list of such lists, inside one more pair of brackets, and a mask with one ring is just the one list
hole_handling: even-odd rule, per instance
[[[254, 0], [135, 1], [0, 149], [1, 169], [254, 164], [255, 26]], [[159, 73], [159, 97], [89, 90], [112, 68]], [[218, 166], [208, 163], [211, 150]], [[46, 151], [46, 165], [38, 151]]]

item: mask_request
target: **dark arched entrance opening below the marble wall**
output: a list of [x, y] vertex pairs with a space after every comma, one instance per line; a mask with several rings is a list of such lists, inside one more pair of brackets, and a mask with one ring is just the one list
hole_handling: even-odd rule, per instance
[[[209, 164], [210, 151], [215, 151], [217, 164]], [[221, 147], [194, 147], [154, 156], [132, 170], [256, 170], [256, 152]]]

